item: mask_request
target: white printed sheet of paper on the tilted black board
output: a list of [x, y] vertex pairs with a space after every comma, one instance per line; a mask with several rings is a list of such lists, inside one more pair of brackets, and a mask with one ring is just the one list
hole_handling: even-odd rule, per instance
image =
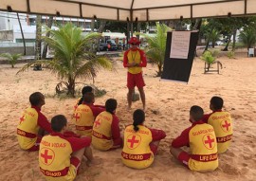
[[188, 59], [191, 31], [173, 31], [170, 58]]

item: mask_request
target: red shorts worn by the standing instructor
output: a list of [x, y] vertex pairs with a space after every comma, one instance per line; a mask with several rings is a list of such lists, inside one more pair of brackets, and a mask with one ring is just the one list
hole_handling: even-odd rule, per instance
[[127, 72], [127, 87], [128, 88], [142, 88], [145, 86], [145, 82], [142, 77], [142, 72], [138, 74], [131, 74], [130, 72]]

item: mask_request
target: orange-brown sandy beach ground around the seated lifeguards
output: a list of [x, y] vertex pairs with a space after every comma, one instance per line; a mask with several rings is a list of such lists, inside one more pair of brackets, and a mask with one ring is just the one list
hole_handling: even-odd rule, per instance
[[[101, 70], [95, 79], [95, 86], [107, 93], [96, 99], [97, 104], [105, 100], [118, 100], [117, 116], [120, 128], [132, 123], [132, 113], [142, 108], [141, 101], [133, 103], [127, 111], [126, 69], [117, 59], [116, 71]], [[146, 121], [149, 127], [162, 129], [167, 137], [158, 148], [154, 164], [145, 170], [137, 171], [121, 163], [121, 149], [111, 152], [93, 150], [101, 164], [86, 167], [77, 177], [77, 181], [255, 181], [256, 180], [256, 58], [247, 58], [246, 53], [237, 53], [235, 59], [223, 56], [220, 74], [204, 74], [204, 62], [194, 60], [189, 83], [159, 81], [155, 78], [156, 66], [148, 64], [144, 68], [147, 101]], [[69, 119], [76, 99], [54, 97], [55, 86], [60, 81], [55, 75], [44, 69], [16, 75], [24, 63], [10, 68], [9, 64], [0, 64], [0, 180], [3, 181], [43, 181], [39, 171], [38, 152], [27, 153], [19, 148], [16, 138], [16, 126], [24, 109], [29, 106], [28, 97], [40, 91], [46, 96], [46, 105], [42, 112], [50, 120], [57, 114]], [[78, 80], [91, 84], [92, 80]], [[192, 105], [204, 108], [210, 113], [209, 102], [212, 96], [224, 99], [224, 110], [231, 113], [233, 120], [233, 140], [226, 154], [219, 155], [219, 168], [215, 172], [192, 172], [180, 165], [169, 153], [170, 140], [191, 124], [189, 110]]]

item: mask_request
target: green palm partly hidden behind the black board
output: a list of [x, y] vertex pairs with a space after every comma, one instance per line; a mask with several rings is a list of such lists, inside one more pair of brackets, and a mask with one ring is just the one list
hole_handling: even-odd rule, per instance
[[168, 30], [171, 30], [171, 27], [156, 23], [156, 34], [154, 37], [142, 33], [148, 43], [148, 47], [145, 49], [146, 56], [152, 63], [157, 64], [157, 77], [162, 75]]

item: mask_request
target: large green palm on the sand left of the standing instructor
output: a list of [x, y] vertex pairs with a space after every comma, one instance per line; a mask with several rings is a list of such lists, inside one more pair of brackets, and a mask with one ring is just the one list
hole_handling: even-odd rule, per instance
[[95, 78], [101, 67], [112, 68], [112, 63], [107, 58], [89, 51], [91, 43], [101, 34], [91, 32], [82, 36], [82, 29], [73, 27], [70, 23], [58, 30], [47, 28], [47, 31], [50, 31], [51, 36], [45, 39], [54, 50], [53, 60], [27, 63], [18, 73], [25, 71], [33, 64], [42, 63], [63, 80], [57, 84], [56, 92], [58, 88], [65, 85], [67, 95], [74, 97], [77, 78]]

